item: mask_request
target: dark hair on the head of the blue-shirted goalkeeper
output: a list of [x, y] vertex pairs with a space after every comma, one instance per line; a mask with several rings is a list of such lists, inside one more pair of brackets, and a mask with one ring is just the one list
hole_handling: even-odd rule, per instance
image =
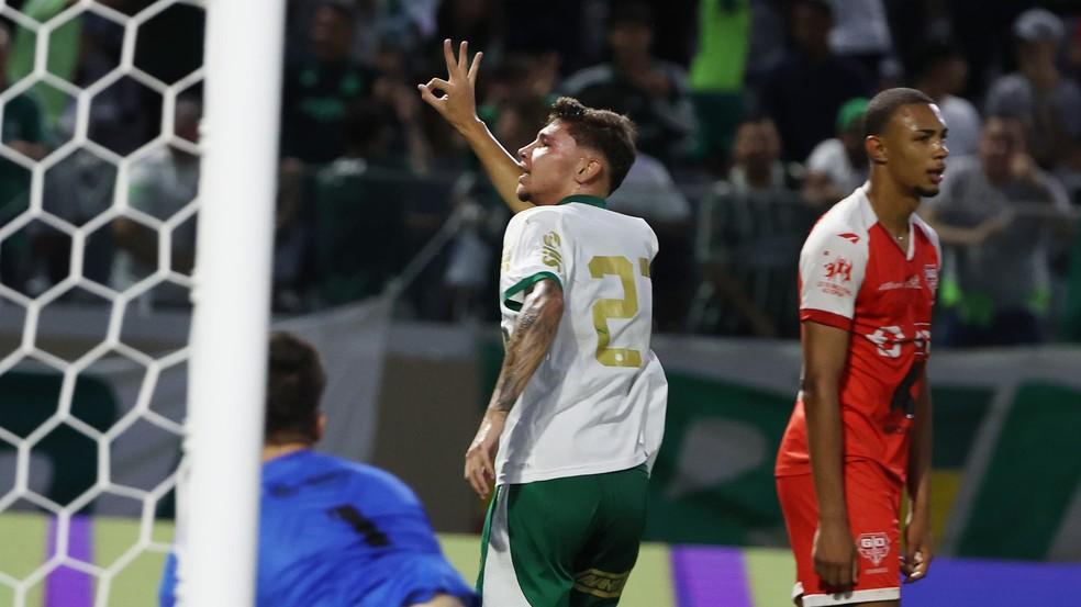
[[319, 402], [326, 374], [311, 344], [289, 333], [272, 333], [267, 366], [268, 443], [319, 440]]

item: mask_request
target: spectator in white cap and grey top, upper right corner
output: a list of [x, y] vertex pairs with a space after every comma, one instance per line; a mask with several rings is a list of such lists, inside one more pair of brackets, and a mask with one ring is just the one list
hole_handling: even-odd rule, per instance
[[1029, 9], [1014, 21], [1013, 34], [1017, 71], [991, 86], [985, 113], [1019, 119], [1033, 158], [1054, 168], [1081, 146], [1081, 88], [1057, 64], [1065, 26], [1055, 13]]

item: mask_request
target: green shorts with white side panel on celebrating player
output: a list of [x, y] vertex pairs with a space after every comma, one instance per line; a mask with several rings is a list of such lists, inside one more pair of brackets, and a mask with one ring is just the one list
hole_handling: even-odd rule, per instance
[[646, 465], [501, 485], [477, 591], [487, 607], [617, 605], [646, 520]]

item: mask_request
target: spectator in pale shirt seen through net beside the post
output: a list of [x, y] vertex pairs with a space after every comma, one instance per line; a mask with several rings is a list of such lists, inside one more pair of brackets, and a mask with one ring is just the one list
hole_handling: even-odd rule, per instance
[[[183, 142], [199, 142], [201, 102], [180, 98], [176, 104], [174, 132]], [[129, 205], [158, 221], [167, 222], [191, 204], [199, 191], [199, 156], [176, 145], [163, 146], [142, 157], [132, 167]], [[166, 229], [166, 228], [163, 228]], [[158, 233], [131, 216], [112, 223], [116, 245], [110, 282], [124, 291], [158, 270]], [[171, 228], [171, 269], [190, 274], [194, 263], [194, 215]], [[188, 290], [169, 281], [156, 286], [149, 301], [155, 306], [189, 305]]]

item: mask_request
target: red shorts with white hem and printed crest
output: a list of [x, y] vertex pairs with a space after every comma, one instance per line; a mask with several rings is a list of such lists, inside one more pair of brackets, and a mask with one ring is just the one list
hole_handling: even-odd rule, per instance
[[795, 588], [803, 607], [901, 598], [901, 483], [873, 461], [845, 463], [848, 524], [859, 550], [859, 578], [844, 593], [827, 593], [814, 572], [811, 549], [818, 528], [818, 503], [811, 474], [778, 476], [777, 495], [795, 555]]

